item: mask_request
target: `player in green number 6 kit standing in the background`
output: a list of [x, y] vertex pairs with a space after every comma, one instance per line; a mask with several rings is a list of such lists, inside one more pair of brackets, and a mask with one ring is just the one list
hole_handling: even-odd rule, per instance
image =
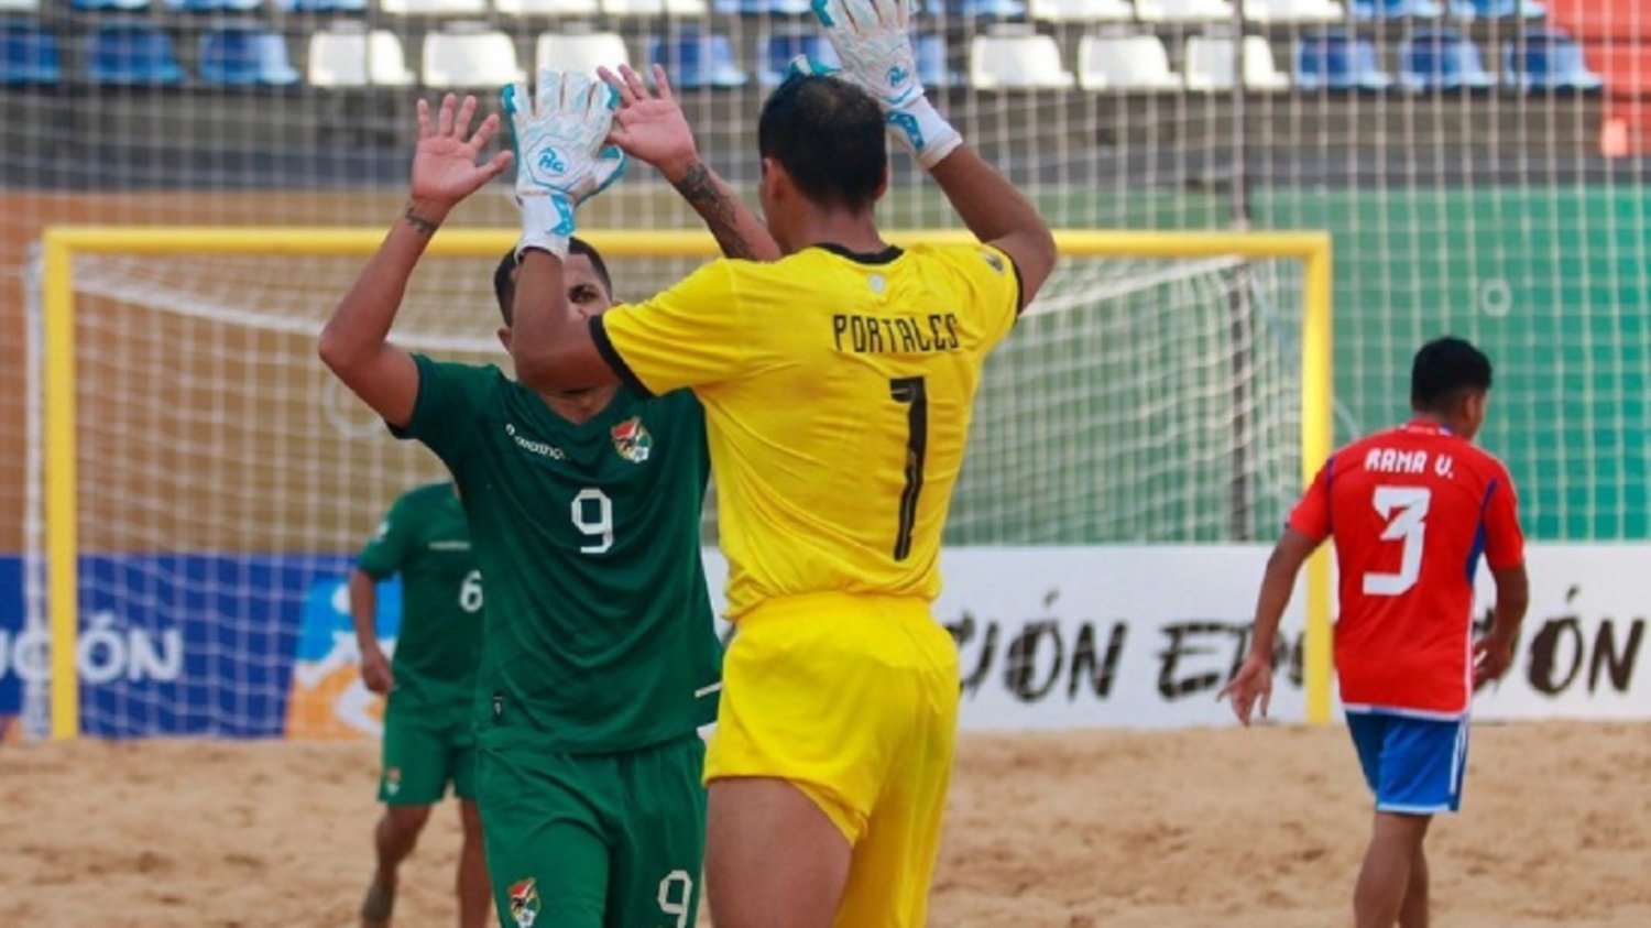
[[[395, 659], [378, 646], [378, 581], [401, 578], [401, 631]], [[475, 809], [475, 738], [471, 707], [482, 654], [482, 571], [451, 482], [401, 494], [350, 571], [350, 619], [362, 651], [362, 680], [388, 697], [375, 829], [378, 869], [362, 923], [386, 925], [396, 870], [413, 852], [431, 806], [452, 783], [464, 821], [459, 852], [459, 925], [487, 921], [487, 867]]]

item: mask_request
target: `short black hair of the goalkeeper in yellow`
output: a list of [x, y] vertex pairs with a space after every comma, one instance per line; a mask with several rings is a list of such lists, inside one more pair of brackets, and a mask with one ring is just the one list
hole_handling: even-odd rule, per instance
[[830, 208], [872, 208], [888, 170], [877, 101], [819, 74], [792, 74], [769, 94], [756, 124], [756, 150], [779, 162], [804, 196]]

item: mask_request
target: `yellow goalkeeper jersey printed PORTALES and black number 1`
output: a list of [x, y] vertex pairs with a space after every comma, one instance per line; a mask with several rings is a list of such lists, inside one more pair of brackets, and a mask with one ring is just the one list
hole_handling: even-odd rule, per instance
[[1020, 284], [984, 244], [718, 259], [591, 320], [631, 388], [705, 406], [728, 616], [806, 593], [939, 593], [981, 365]]

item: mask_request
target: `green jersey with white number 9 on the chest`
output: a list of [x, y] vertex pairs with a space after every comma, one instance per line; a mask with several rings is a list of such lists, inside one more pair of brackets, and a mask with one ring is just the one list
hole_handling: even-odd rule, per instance
[[576, 424], [495, 367], [416, 363], [400, 434], [452, 471], [487, 578], [479, 745], [627, 751], [712, 722], [698, 401], [621, 388]]

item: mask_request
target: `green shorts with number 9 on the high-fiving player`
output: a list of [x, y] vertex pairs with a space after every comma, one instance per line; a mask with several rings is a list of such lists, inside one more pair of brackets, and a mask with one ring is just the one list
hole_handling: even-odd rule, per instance
[[698, 735], [619, 755], [484, 746], [479, 756], [500, 925], [693, 925], [705, 859]]

